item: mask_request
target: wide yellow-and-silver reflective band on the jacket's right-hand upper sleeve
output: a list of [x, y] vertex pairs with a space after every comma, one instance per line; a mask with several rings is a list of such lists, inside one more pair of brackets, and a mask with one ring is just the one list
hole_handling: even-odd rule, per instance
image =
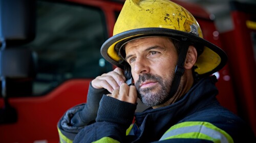
[[198, 138], [213, 142], [233, 143], [232, 137], [208, 122], [183, 122], [168, 129], [160, 140], [170, 138]]

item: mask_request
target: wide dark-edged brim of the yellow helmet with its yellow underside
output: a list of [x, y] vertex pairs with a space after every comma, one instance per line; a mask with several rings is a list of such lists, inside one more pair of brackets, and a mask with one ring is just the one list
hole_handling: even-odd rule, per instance
[[[195, 71], [199, 75], [210, 75], [222, 69], [227, 63], [226, 53], [216, 46], [215, 44], [210, 43], [209, 41], [198, 37], [194, 34], [173, 30], [169, 28], [160, 28], [160, 27], [149, 27], [149, 28], [137, 28], [135, 30], [125, 31], [114, 35], [113, 37], [106, 40], [101, 46], [101, 55], [103, 58], [117, 67], [123, 68], [123, 59], [116, 49], [116, 45], [120, 45], [124, 41], [127, 42], [127, 39], [132, 40], [138, 37], [147, 37], [147, 36], [163, 36], [170, 37], [175, 39], [185, 38], [189, 42], [194, 44], [199, 44], [204, 46], [204, 52], [198, 57], [196, 65], [198, 69]], [[211, 57], [207, 57], [211, 56]]]

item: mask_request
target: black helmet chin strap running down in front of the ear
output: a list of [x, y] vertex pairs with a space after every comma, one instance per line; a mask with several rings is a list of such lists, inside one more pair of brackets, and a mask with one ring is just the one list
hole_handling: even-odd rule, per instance
[[186, 41], [186, 38], [182, 38], [182, 40], [179, 43], [179, 55], [178, 55], [178, 62], [175, 68], [175, 74], [174, 74], [174, 79], [172, 81], [172, 85], [170, 87], [170, 94], [169, 97], [166, 99], [169, 100], [170, 98], [174, 97], [174, 95], [176, 94], [179, 85], [180, 85], [180, 79], [181, 76], [184, 74], [184, 63], [186, 60], [186, 55], [187, 55], [187, 50], [189, 47], [189, 42]]

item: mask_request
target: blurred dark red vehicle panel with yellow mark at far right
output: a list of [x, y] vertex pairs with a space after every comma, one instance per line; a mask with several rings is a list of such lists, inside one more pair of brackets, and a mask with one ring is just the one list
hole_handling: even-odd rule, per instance
[[256, 134], [256, 5], [230, 2], [233, 29], [222, 34], [229, 57], [238, 115]]

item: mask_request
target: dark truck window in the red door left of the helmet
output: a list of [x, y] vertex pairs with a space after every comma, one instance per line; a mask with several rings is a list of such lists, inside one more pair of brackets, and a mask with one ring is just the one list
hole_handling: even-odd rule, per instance
[[71, 78], [94, 78], [112, 70], [100, 47], [108, 39], [103, 12], [94, 7], [37, 1], [37, 54], [33, 95], [43, 95]]

